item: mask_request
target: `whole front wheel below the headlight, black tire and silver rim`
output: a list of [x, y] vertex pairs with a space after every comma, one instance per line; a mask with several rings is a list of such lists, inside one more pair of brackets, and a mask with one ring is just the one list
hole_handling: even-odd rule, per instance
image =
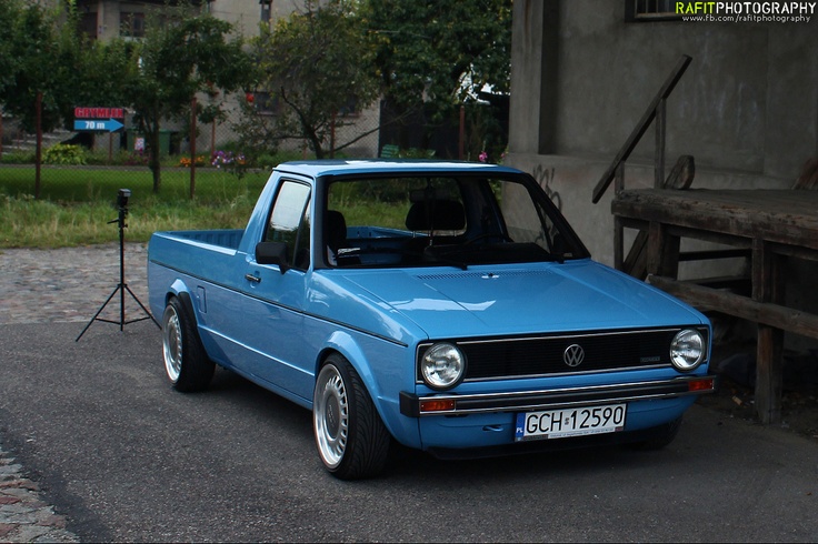
[[340, 354], [327, 357], [316, 379], [312, 430], [321, 462], [340, 480], [378, 475], [391, 436], [358, 373]]

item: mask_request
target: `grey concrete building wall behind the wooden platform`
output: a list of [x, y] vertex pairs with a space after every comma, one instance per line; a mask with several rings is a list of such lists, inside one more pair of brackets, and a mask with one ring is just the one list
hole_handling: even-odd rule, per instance
[[[731, 12], [704, 11], [717, 3]], [[694, 188], [789, 189], [818, 157], [818, 8], [756, 12], [774, 3], [515, 1], [506, 162], [535, 174], [597, 260], [614, 264], [614, 188], [592, 204], [595, 187], [682, 56], [692, 60], [667, 99], [666, 173], [689, 154]], [[685, 20], [678, 4], [701, 17]], [[626, 189], [654, 185], [656, 148], [650, 127], [626, 163]], [[634, 235], [626, 230], [626, 251]], [[697, 244], [685, 239], [682, 250]], [[699, 276], [696, 265], [681, 263], [680, 279]], [[719, 266], [732, 274], [746, 261]], [[814, 313], [816, 268], [796, 263], [787, 286]]]

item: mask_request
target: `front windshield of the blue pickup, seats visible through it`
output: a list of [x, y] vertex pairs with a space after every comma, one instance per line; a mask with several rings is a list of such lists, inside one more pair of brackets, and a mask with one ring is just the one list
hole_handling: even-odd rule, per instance
[[565, 219], [519, 178], [341, 179], [327, 189], [329, 266], [428, 266], [588, 256]]

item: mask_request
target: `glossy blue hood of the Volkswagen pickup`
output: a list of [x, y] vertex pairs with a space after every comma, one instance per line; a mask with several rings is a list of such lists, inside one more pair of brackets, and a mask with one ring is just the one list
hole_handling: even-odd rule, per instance
[[525, 269], [479, 266], [356, 271], [368, 296], [429, 338], [669, 326], [704, 315], [650, 285], [590, 260]]

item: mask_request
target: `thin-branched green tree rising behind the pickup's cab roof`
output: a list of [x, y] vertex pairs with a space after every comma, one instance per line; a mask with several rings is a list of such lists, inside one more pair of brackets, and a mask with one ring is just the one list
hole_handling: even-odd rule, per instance
[[[303, 12], [279, 20], [272, 30], [261, 28], [253, 41], [258, 84], [276, 108], [275, 121], [262, 130], [267, 141], [305, 140], [319, 159], [352, 143], [331, 142], [332, 128], [343, 124], [339, 112], [371, 105], [379, 82], [371, 44], [350, 6], [308, 1]], [[263, 127], [252, 124], [257, 132]]]

